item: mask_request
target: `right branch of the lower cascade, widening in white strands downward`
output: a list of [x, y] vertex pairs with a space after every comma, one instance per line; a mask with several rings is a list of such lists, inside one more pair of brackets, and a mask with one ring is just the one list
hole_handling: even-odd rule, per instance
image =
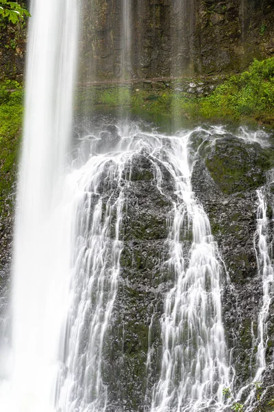
[[[229, 386], [221, 318], [221, 268], [208, 216], [195, 200], [188, 164], [188, 135], [172, 139], [169, 164], [180, 203], [170, 225], [169, 265], [176, 282], [166, 296], [162, 317], [162, 366], [151, 411], [197, 411], [223, 402]], [[182, 232], [191, 233], [189, 256]]]

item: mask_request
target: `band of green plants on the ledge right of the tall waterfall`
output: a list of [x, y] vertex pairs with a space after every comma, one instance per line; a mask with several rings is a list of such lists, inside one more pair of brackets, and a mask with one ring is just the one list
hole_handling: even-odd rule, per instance
[[91, 89], [90, 97], [79, 93], [78, 104], [100, 108], [108, 106], [140, 114], [143, 117], [171, 117], [191, 121], [204, 119], [236, 122], [251, 119], [274, 124], [274, 58], [254, 60], [248, 71], [230, 76], [207, 97], [175, 93], [173, 89], [131, 89], [110, 87]]

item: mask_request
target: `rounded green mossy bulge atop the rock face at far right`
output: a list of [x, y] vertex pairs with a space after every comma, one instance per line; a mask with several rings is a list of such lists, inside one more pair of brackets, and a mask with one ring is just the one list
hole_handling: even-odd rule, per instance
[[274, 165], [274, 151], [232, 135], [216, 135], [203, 153], [212, 179], [225, 194], [256, 189], [266, 183]]

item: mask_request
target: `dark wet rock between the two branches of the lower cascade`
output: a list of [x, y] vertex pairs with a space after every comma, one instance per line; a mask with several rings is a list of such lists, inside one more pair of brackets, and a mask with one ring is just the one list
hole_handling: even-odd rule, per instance
[[[123, 176], [128, 182], [121, 226], [124, 246], [103, 375], [109, 411], [141, 411], [146, 394], [158, 379], [160, 317], [164, 292], [173, 284], [174, 275], [163, 264], [169, 257], [166, 217], [174, 195], [167, 170], [164, 194], [160, 193], [153, 180], [153, 164], [145, 155], [136, 155]], [[152, 371], [147, 369], [149, 340], [155, 347]]]

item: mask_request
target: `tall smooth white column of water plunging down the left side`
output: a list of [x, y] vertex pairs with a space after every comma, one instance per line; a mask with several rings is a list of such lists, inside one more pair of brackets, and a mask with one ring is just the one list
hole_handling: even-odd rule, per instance
[[[63, 190], [77, 54], [77, 1], [32, 3], [16, 211], [12, 347], [3, 411], [53, 411], [69, 293], [69, 189]], [[66, 198], [66, 194], [68, 198]], [[65, 205], [65, 208], [62, 207]], [[1, 365], [2, 367], [2, 365]]]

